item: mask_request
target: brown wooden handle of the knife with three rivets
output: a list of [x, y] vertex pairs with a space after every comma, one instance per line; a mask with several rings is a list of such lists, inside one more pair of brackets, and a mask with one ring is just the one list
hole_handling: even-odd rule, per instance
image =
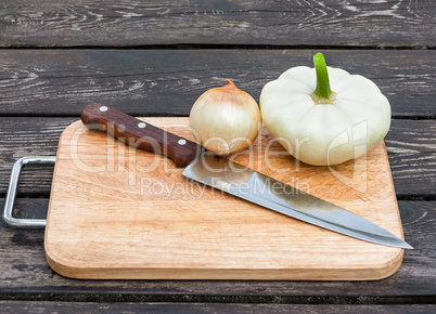
[[99, 103], [84, 108], [81, 121], [88, 129], [104, 131], [127, 145], [167, 156], [176, 167], [188, 166], [202, 151], [194, 142]]

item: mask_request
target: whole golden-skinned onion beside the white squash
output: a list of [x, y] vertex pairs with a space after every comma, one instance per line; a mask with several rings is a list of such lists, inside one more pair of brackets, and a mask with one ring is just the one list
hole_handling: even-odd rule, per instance
[[261, 127], [259, 106], [231, 80], [203, 93], [192, 106], [190, 127], [208, 151], [229, 155], [248, 147]]

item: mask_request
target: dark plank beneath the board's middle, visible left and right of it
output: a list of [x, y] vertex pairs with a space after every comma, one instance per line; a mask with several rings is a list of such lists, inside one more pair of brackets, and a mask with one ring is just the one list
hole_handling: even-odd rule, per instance
[[[24, 156], [54, 156], [64, 129], [77, 118], [0, 118], [0, 195], [4, 196], [13, 163]], [[436, 195], [434, 120], [393, 120], [386, 136], [397, 197], [427, 199]], [[53, 171], [24, 168], [20, 196], [48, 197]]]

